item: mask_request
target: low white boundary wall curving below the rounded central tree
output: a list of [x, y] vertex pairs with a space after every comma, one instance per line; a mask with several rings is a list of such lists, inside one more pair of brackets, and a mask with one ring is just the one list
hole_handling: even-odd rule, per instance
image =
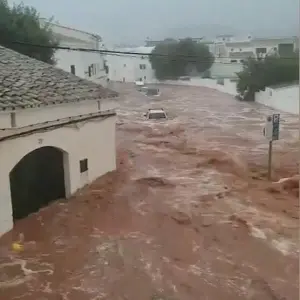
[[165, 80], [159, 83], [207, 87], [233, 96], [237, 95], [236, 82], [231, 81], [230, 79], [224, 79], [221, 81], [221, 80], [209, 79], [209, 78], [191, 78], [190, 80]]

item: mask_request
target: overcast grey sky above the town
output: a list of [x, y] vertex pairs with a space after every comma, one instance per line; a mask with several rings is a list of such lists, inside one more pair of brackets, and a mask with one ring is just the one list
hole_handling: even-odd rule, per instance
[[[9, 3], [19, 3], [9, 0]], [[282, 35], [298, 30], [299, 0], [24, 0], [42, 17], [98, 33], [107, 42], [138, 43], [174, 28], [209, 26], [225, 31]], [[229, 27], [229, 28], [228, 28]], [[187, 29], [188, 31], [189, 29]], [[218, 30], [218, 29], [216, 29]], [[175, 30], [176, 31], [176, 30]], [[171, 31], [173, 32], [173, 31]], [[293, 33], [294, 33], [293, 32]], [[225, 33], [225, 32], [220, 32]], [[230, 33], [230, 32], [228, 32]], [[207, 34], [206, 32], [204, 35]], [[199, 36], [203, 34], [199, 32]]]

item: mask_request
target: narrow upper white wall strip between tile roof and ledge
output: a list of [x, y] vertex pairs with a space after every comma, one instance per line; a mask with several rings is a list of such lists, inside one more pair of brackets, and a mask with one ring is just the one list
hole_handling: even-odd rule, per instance
[[[63, 103], [38, 108], [15, 110], [16, 127], [25, 127], [50, 121], [87, 115], [99, 111], [115, 110], [118, 106], [117, 99], [100, 99], [98, 101], [79, 101]], [[0, 129], [11, 127], [10, 112], [0, 112]]]

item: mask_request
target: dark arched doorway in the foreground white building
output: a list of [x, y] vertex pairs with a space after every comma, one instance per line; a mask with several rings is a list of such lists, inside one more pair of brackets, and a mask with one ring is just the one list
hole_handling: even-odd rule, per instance
[[13, 219], [65, 198], [64, 152], [41, 147], [25, 155], [9, 174]]

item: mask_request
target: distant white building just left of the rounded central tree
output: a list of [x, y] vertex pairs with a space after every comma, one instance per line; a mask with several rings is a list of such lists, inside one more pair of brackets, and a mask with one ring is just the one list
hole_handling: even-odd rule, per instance
[[[154, 70], [149, 61], [149, 54], [154, 47], [117, 48], [115, 51], [133, 53], [131, 55], [107, 55], [109, 79], [119, 82], [137, 80], [151, 83], [155, 81]], [[139, 54], [134, 54], [139, 53]], [[144, 54], [144, 55], [143, 55]]]

